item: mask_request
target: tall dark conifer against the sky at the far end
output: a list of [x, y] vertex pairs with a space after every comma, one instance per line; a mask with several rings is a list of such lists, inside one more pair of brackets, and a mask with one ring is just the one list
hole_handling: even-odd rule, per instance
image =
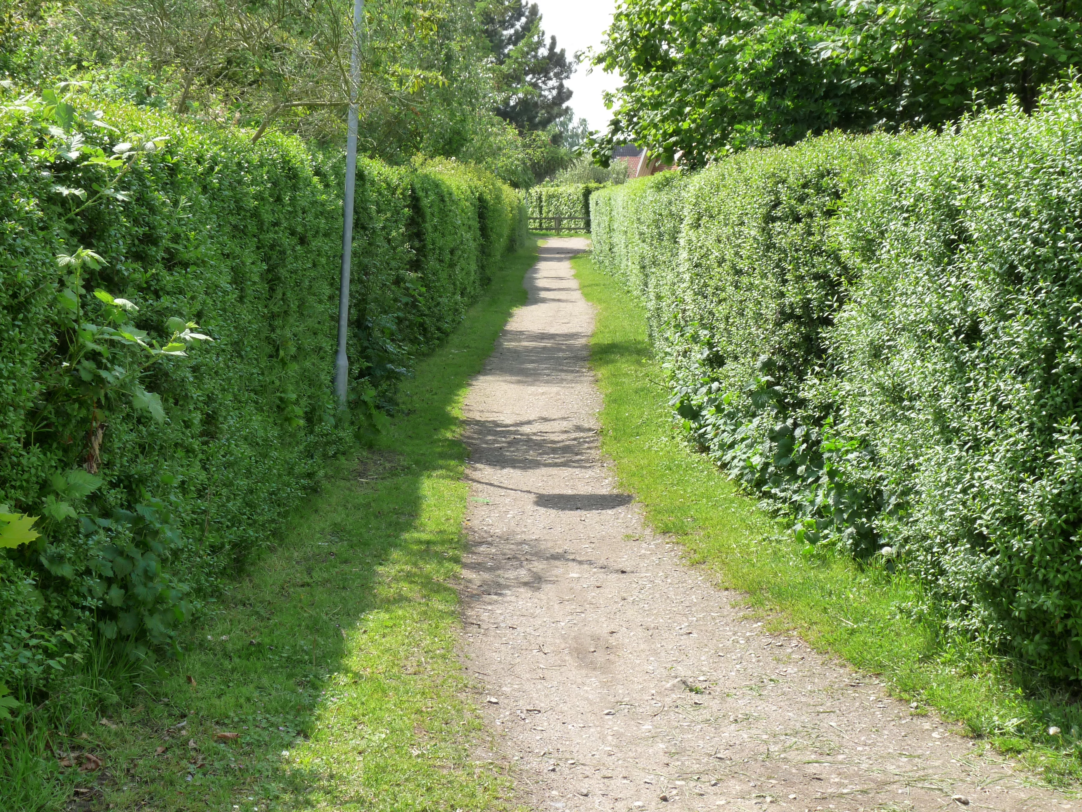
[[566, 116], [571, 91], [565, 82], [575, 73], [575, 62], [556, 48], [555, 37], [545, 42], [537, 3], [486, 0], [479, 12], [498, 66], [502, 99], [497, 115], [519, 130], [544, 130]]

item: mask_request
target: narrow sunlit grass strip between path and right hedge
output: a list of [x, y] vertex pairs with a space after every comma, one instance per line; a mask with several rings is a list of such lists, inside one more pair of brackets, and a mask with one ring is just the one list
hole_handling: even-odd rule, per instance
[[[795, 630], [820, 651], [880, 676], [898, 696], [962, 722], [972, 736], [1017, 756], [1050, 783], [1082, 778], [1078, 694], [1043, 684], [919, 616], [919, 585], [882, 564], [805, 556], [784, 526], [696, 453], [672, 418], [665, 372], [638, 301], [590, 254], [572, 260], [597, 307], [592, 363], [604, 394], [602, 447], [647, 520], [721, 587], [747, 593], [750, 612]], [[918, 619], [920, 618], [920, 619]], [[1050, 729], [1058, 728], [1058, 734]]]

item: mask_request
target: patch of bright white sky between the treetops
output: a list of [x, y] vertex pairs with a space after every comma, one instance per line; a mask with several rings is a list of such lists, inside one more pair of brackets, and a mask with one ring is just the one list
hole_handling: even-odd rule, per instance
[[[541, 10], [541, 27], [545, 35], [556, 35], [556, 47], [567, 51], [570, 58], [576, 51], [597, 48], [602, 35], [612, 22], [616, 0], [533, 0]], [[616, 90], [620, 80], [612, 74], [595, 69], [589, 76], [589, 65], [580, 65], [568, 87], [575, 92], [570, 105], [575, 117], [590, 122], [591, 130], [604, 130], [609, 116], [602, 102], [603, 90]]]

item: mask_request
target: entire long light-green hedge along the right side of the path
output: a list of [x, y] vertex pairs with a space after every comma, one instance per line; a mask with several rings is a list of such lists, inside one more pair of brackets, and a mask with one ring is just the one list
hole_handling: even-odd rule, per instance
[[1082, 91], [592, 198], [673, 406], [813, 549], [884, 548], [949, 627], [1082, 679]]

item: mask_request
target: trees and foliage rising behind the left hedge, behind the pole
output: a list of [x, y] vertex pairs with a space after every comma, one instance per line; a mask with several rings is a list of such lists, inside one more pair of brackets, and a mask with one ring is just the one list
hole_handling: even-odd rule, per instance
[[[520, 188], [570, 159], [555, 135], [519, 132], [497, 115], [513, 95], [537, 114], [541, 96], [523, 83], [527, 79], [553, 101], [547, 79], [531, 73], [545, 74], [530, 51], [543, 45], [538, 21], [525, 50], [510, 60], [514, 64], [502, 65], [494, 64], [483, 17], [484, 9], [450, 0], [366, 2], [358, 89], [362, 154], [396, 166], [419, 154], [456, 157]], [[283, 0], [274, 6], [238, 0], [13, 0], [0, 11], [0, 79], [10, 76], [27, 87], [85, 81], [98, 100], [171, 109], [242, 129], [253, 140], [278, 129], [341, 148], [352, 29], [353, 3], [345, 0]], [[554, 115], [568, 91], [560, 93]], [[549, 118], [545, 113], [539, 126]]]

